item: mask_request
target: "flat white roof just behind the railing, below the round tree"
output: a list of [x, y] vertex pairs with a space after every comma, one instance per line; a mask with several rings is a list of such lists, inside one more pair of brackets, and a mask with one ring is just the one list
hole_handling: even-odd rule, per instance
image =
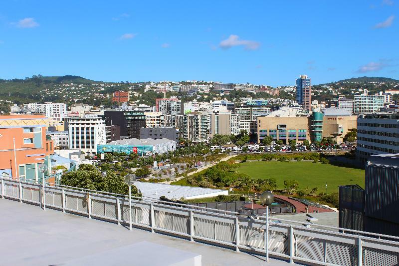
[[168, 185], [161, 183], [147, 183], [136, 181], [134, 185], [140, 189], [144, 197], [149, 197], [159, 200], [161, 196], [165, 196], [168, 199], [180, 200], [184, 199], [199, 199], [207, 197], [215, 197], [217, 195], [228, 195], [227, 190], [222, 189], [208, 189], [200, 187], [188, 187], [188, 186], [177, 186]]

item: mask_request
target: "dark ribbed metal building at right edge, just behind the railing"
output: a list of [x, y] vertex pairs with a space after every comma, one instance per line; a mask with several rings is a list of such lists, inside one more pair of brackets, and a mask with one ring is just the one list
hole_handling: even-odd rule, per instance
[[399, 236], [399, 154], [371, 155], [365, 185], [340, 187], [340, 227]]

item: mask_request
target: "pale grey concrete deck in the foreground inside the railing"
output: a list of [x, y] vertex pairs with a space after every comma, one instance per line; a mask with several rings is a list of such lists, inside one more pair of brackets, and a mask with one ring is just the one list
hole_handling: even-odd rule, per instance
[[199, 255], [202, 265], [290, 265], [7, 199], [0, 212], [0, 265], [178, 265]]

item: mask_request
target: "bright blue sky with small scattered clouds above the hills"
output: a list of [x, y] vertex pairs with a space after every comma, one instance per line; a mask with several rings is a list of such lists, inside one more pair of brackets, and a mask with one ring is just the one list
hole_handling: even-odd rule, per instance
[[0, 78], [399, 79], [399, 0], [1, 0]]

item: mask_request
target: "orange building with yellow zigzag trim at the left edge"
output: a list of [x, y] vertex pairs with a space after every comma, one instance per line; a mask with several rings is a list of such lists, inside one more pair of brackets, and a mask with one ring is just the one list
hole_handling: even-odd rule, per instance
[[40, 164], [51, 172], [52, 140], [46, 138], [44, 115], [0, 115], [0, 175], [39, 180]]

